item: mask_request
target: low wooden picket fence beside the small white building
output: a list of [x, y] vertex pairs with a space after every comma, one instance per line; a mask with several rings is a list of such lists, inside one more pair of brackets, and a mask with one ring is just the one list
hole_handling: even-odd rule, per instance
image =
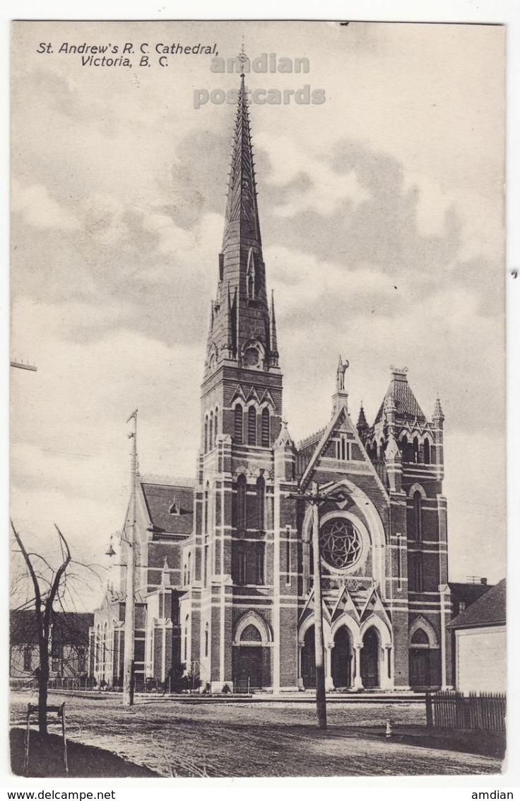
[[446, 729], [506, 731], [505, 693], [426, 693], [426, 725]]

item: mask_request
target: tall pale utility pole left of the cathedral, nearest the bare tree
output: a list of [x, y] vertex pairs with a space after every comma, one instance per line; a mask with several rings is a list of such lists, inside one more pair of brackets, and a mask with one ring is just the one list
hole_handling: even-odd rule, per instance
[[124, 706], [134, 705], [134, 641], [135, 641], [135, 545], [136, 504], [138, 478], [138, 410], [130, 415], [127, 423], [134, 421], [134, 431], [128, 435], [132, 440], [130, 460], [130, 525], [127, 528], [126, 543], [126, 604], [125, 604], [125, 650], [123, 658], [122, 702]]

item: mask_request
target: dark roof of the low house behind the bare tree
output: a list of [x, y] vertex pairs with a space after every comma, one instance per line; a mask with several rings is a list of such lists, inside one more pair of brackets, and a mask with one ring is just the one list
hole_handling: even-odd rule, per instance
[[[36, 615], [34, 610], [10, 610], [11, 645], [38, 642]], [[53, 612], [53, 639], [59, 642], [74, 642], [75, 645], [89, 643], [89, 628], [94, 626], [94, 614], [90, 612]]]

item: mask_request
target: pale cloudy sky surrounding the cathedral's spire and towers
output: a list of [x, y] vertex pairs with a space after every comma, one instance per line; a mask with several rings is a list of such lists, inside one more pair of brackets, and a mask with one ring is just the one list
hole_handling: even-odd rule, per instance
[[[446, 414], [450, 578], [505, 574], [503, 30], [307, 22], [21, 22], [13, 47], [12, 516], [106, 564], [139, 408], [143, 473], [193, 475], [234, 107], [208, 55], [306, 57], [251, 89], [267, 280], [294, 439], [330, 418], [338, 352], [357, 419], [390, 364]], [[41, 42], [54, 52], [38, 53]], [[64, 42], [150, 46], [151, 66], [82, 66]], [[40, 48], [41, 49], [41, 48]], [[46, 547], [50, 547], [46, 542]]]

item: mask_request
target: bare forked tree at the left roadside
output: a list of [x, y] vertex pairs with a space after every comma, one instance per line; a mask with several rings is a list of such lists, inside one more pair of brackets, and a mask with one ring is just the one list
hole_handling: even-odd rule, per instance
[[[38, 728], [42, 736], [47, 734], [47, 693], [48, 682], [50, 673], [50, 633], [52, 626], [52, 611], [54, 602], [60, 598], [60, 590], [62, 589], [62, 582], [66, 576], [67, 567], [72, 561], [70, 556], [69, 545], [63, 536], [58, 526], [54, 524], [58, 532], [58, 540], [61, 546], [62, 557], [61, 563], [57, 569], [50, 566], [46, 559], [38, 553], [30, 553], [26, 550], [18, 531], [14, 528], [14, 523], [11, 521], [11, 527], [14, 533], [14, 539], [18, 544], [20, 553], [22, 553], [23, 561], [26, 564], [30, 581], [34, 590], [34, 615], [36, 620], [36, 629], [38, 634], [38, 654], [39, 666], [37, 669], [38, 678]], [[45, 564], [47, 568], [47, 575], [44, 576], [40, 570], [40, 565]]]

